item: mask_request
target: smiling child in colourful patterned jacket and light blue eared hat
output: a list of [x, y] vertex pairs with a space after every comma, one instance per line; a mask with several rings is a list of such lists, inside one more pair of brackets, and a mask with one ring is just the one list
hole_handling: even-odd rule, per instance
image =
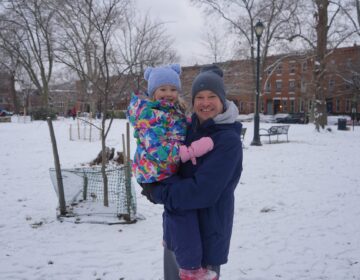
[[[134, 127], [137, 148], [132, 165], [139, 184], [154, 183], [174, 175], [180, 161], [201, 157], [213, 149], [210, 137], [182, 145], [186, 136], [187, 119], [179, 104], [181, 92], [179, 64], [149, 67], [144, 77], [148, 82], [147, 98], [134, 95], [127, 116]], [[196, 210], [171, 212], [174, 230], [183, 232], [170, 245], [180, 266], [180, 279], [216, 279], [211, 270], [201, 268], [202, 246]], [[181, 236], [181, 238], [178, 238]]]

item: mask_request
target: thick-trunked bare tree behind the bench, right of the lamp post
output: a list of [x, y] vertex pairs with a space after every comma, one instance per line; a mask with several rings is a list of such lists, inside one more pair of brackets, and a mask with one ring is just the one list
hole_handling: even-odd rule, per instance
[[[326, 70], [327, 60], [333, 50], [347, 42], [356, 33], [349, 19], [346, 1], [313, 0], [302, 2], [302, 25], [292, 30], [289, 41], [301, 39], [314, 61], [312, 88], [312, 119], [316, 129], [327, 124]], [[312, 15], [309, 17], [308, 15]]]

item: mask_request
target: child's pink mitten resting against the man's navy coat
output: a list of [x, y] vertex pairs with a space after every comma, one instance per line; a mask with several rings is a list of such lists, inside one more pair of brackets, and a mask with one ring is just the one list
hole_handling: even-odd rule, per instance
[[191, 143], [190, 147], [180, 146], [179, 155], [182, 162], [191, 159], [196, 164], [196, 157], [201, 157], [214, 148], [214, 142], [210, 137], [202, 137]]

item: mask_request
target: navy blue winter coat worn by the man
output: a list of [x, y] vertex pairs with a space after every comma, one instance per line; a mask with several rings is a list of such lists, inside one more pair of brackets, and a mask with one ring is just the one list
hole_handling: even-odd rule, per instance
[[[239, 122], [217, 124], [209, 119], [199, 125], [194, 115], [188, 129], [186, 145], [210, 136], [214, 149], [180, 166], [178, 175], [152, 191], [153, 199], [164, 204], [164, 240], [171, 244], [172, 211], [197, 209], [202, 241], [202, 264], [221, 265], [227, 262], [234, 216], [234, 190], [242, 171], [242, 145]], [[189, 236], [191, 238], [191, 236]], [[172, 249], [171, 246], [169, 248]]]

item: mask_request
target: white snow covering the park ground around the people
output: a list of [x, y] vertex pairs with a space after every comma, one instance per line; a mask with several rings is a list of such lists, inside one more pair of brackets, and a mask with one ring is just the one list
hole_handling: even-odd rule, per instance
[[[63, 168], [100, 150], [99, 141], [70, 141], [71, 123], [54, 122]], [[258, 147], [250, 145], [253, 122], [243, 125], [244, 170], [221, 279], [359, 280], [360, 127], [318, 133], [311, 124], [292, 124], [288, 143], [262, 138]], [[108, 146], [122, 150], [124, 132], [125, 121], [116, 120]], [[135, 224], [61, 223], [47, 123], [1, 123], [0, 133], [0, 279], [163, 278], [160, 205], [136, 188], [145, 219]]]

